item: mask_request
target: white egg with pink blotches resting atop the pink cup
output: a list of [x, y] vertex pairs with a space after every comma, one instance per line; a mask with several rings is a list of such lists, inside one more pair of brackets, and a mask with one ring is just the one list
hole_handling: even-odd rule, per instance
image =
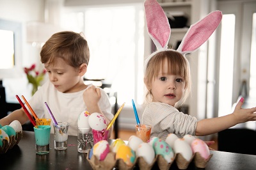
[[102, 131], [107, 128], [107, 121], [99, 112], [93, 112], [88, 119], [89, 125], [92, 129]]

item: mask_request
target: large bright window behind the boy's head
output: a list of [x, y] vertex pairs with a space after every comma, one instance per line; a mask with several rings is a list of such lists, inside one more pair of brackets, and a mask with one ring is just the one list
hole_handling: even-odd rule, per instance
[[84, 8], [62, 20], [86, 36], [91, 58], [85, 77], [112, 84], [118, 104], [143, 101], [144, 22], [143, 4]]

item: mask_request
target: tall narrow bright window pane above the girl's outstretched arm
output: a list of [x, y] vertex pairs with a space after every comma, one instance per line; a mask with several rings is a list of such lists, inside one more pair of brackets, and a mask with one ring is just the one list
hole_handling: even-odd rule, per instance
[[234, 14], [227, 14], [221, 21], [219, 116], [232, 107], [235, 20]]

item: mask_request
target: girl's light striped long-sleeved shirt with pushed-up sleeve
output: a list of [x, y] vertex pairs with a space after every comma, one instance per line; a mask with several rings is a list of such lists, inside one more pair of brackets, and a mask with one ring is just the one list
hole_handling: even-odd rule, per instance
[[195, 135], [197, 122], [195, 117], [161, 102], [147, 104], [142, 115], [142, 123], [152, 125], [150, 137], [159, 137], [163, 140], [171, 133], [177, 137]]

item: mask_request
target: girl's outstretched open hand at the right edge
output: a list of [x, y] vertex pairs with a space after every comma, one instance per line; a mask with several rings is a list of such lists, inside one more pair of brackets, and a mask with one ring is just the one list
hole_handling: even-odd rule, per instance
[[244, 98], [242, 97], [239, 102], [236, 104], [233, 115], [237, 123], [244, 123], [246, 121], [255, 121], [256, 120], [256, 107], [251, 109], [242, 109], [244, 104]]

